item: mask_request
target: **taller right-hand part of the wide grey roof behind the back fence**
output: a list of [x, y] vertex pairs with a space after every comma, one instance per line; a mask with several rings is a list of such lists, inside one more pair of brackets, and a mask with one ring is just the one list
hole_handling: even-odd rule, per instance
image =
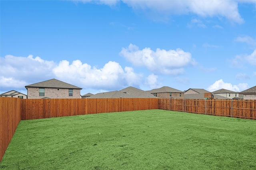
[[122, 90], [119, 90], [120, 92], [127, 93], [131, 96], [134, 96], [136, 98], [157, 98], [156, 96], [152, 95], [150, 92], [140, 90], [135, 87], [127, 87]]

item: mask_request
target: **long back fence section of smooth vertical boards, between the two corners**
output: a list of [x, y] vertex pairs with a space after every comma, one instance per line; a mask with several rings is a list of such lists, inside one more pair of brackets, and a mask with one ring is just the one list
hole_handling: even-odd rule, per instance
[[158, 98], [26, 99], [21, 119], [158, 109]]

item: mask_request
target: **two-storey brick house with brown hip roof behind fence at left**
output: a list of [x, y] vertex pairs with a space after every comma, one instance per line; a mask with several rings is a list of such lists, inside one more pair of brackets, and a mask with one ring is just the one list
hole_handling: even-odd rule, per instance
[[28, 90], [28, 99], [81, 98], [82, 89], [56, 79], [30, 84], [25, 88]]

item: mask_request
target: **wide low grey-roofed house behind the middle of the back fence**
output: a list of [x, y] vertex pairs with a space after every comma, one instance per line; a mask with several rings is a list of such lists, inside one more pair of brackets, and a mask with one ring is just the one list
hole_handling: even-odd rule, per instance
[[97, 93], [88, 98], [157, 98], [154, 95], [134, 87], [124, 88], [119, 91]]

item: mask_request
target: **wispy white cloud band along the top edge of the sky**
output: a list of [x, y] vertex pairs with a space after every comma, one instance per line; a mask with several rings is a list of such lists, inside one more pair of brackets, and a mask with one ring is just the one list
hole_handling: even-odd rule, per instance
[[[120, 0], [72, 0], [74, 2], [91, 2], [113, 7]], [[172, 14], [196, 14], [201, 17], [224, 17], [236, 23], [244, 20], [238, 12], [238, 3], [254, 1], [236, 0], [122, 0], [134, 10], [143, 11], [152, 19], [166, 20]], [[159, 17], [158, 17], [159, 16]]]

